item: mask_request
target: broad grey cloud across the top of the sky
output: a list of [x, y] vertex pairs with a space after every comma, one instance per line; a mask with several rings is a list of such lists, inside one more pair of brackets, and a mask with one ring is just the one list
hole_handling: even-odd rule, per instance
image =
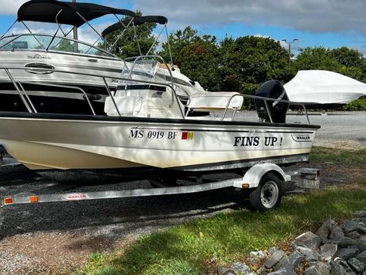
[[135, 9], [189, 25], [271, 24], [306, 32], [366, 33], [363, 0], [135, 0]]

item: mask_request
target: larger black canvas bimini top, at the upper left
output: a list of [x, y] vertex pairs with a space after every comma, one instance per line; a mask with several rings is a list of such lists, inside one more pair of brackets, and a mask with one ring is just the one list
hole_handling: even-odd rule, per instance
[[[60, 10], [62, 10], [62, 12], [60, 12]], [[60, 14], [58, 14], [58, 12], [60, 12]], [[91, 21], [106, 14], [120, 14], [135, 17], [135, 12], [131, 10], [111, 8], [106, 5], [98, 5], [95, 3], [31, 0], [21, 5], [21, 8], [18, 10], [17, 20], [60, 23], [80, 27], [80, 25], [85, 23], [84, 19], [86, 21]], [[84, 17], [84, 19], [82, 19], [82, 17]]]

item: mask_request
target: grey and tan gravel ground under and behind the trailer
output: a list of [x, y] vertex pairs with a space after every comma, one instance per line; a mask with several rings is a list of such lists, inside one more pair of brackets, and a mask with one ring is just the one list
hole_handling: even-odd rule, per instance
[[[242, 112], [250, 118], [253, 112]], [[303, 119], [290, 115], [289, 120]], [[321, 124], [316, 145], [366, 148], [366, 112], [310, 115]], [[297, 164], [291, 168], [309, 166]], [[312, 163], [321, 168], [321, 186], [350, 184], [366, 168]], [[84, 177], [78, 183], [88, 182]], [[91, 181], [116, 180], [92, 177]], [[118, 179], [117, 179], [118, 180]], [[113, 181], [111, 181], [113, 182]], [[56, 184], [23, 166], [0, 168], [0, 197]], [[113, 184], [113, 189], [148, 188], [148, 181]], [[108, 190], [91, 186], [86, 190]], [[285, 186], [291, 192], [294, 186]], [[123, 249], [137, 236], [198, 217], [208, 217], [248, 202], [240, 192], [218, 190], [192, 195], [172, 195], [68, 203], [8, 206], [0, 209], [0, 274], [69, 274], [82, 266], [92, 252]]]

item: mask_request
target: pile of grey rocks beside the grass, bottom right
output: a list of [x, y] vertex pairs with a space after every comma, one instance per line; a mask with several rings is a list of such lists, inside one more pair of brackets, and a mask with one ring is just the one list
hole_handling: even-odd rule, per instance
[[[297, 236], [291, 246], [291, 254], [276, 248], [251, 252], [250, 267], [218, 266], [218, 275], [366, 275], [366, 211], [354, 212], [353, 219], [341, 224], [325, 221], [317, 232]], [[264, 263], [254, 271], [255, 261]]]

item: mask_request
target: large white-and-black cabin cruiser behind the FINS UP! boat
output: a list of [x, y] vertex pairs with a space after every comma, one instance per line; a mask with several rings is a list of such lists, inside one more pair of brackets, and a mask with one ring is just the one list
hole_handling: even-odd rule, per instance
[[[117, 23], [106, 28], [102, 34], [99, 34], [89, 21], [107, 14], [113, 14], [115, 17], [122, 15], [124, 19], [120, 19]], [[32, 98], [30, 106], [32, 111], [87, 114], [90, 110], [89, 103], [85, 98], [88, 97], [95, 113], [99, 115], [105, 114], [104, 100], [108, 93], [101, 78], [91, 75], [106, 76], [104, 80], [109, 89], [115, 91], [117, 78], [121, 76], [122, 67], [128, 61], [123, 61], [111, 52], [96, 47], [95, 43], [98, 41], [92, 45], [70, 39], [67, 34], [72, 29], [67, 32], [61, 28], [61, 25], [80, 27], [87, 24], [101, 38], [104, 38], [115, 30], [135, 28], [144, 23], [159, 23], [166, 30], [168, 23], [168, 19], [161, 16], [135, 17], [135, 13], [130, 10], [115, 9], [94, 3], [67, 3], [55, 0], [27, 1], [19, 8], [16, 21], [24, 25], [25, 21], [56, 23], [58, 28], [54, 35], [34, 34], [25, 25], [25, 28], [30, 31], [29, 34], [10, 34], [0, 38], [1, 65], [8, 67], [12, 76], [19, 80], [17, 87], [14, 88], [12, 83], [8, 81], [8, 72], [0, 72], [0, 81], [2, 80], [0, 110], [29, 111], [18, 96], [18, 89], [21, 89], [27, 90], [27, 97]], [[58, 36], [58, 32], [62, 32], [64, 36]], [[140, 54], [143, 55], [141, 50]], [[157, 78], [170, 77], [166, 66], [158, 68]], [[204, 92], [198, 83], [194, 83], [181, 74], [178, 67], [169, 66], [172, 69], [171, 73], [175, 85], [180, 87], [177, 94], [183, 102], [187, 102], [187, 92]], [[12, 67], [27, 67], [27, 69], [17, 70], [12, 69]], [[66, 75], [56, 71], [79, 72], [84, 73], [84, 75]], [[35, 83], [48, 85], [39, 86]], [[57, 84], [58, 87], [55, 87], [54, 84]], [[40, 92], [41, 89], [42, 92]], [[85, 94], [80, 93], [79, 89], [82, 89]]]

